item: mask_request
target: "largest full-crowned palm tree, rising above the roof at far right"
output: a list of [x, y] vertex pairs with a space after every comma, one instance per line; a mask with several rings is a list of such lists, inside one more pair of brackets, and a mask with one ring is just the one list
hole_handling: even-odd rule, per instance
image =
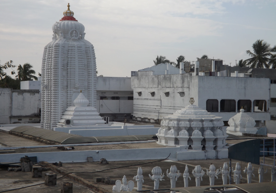
[[253, 45], [253, 52], [247, 50], [246, 53], [252, 58], [245, 60], [246, 66], [250, 68], [269, 68], [272, 48], [264, 40], [257, 40]]

